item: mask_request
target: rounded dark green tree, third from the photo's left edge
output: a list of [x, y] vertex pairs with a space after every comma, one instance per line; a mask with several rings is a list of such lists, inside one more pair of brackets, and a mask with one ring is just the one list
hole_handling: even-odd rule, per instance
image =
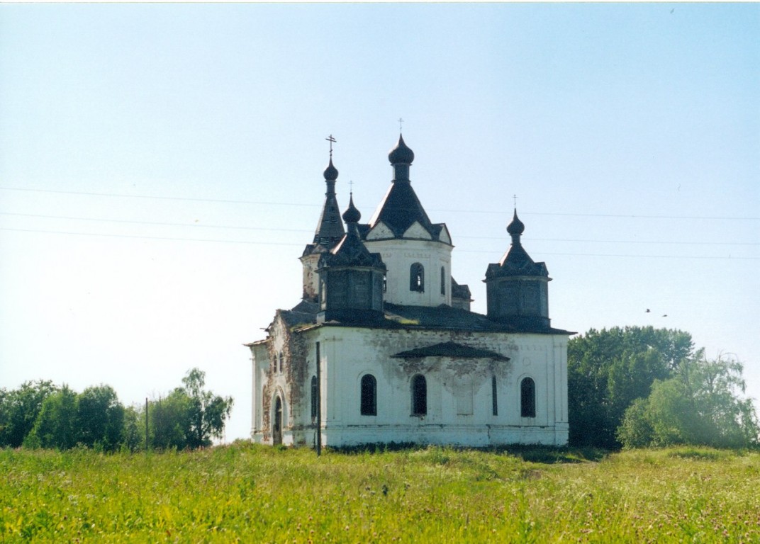
[[108, 385], [87, 387], [77, 397], [78, 442], [114, 451], [122, 442], [124, 406]]

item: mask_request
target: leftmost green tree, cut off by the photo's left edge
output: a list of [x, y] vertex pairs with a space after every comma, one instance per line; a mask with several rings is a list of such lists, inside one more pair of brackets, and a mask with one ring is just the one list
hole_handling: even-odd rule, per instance
[[49, 380], [24, 381], [12, 391], [0, 390], [0, 447], [19, 448], [32, 431], [43, 402], [58, 387]]

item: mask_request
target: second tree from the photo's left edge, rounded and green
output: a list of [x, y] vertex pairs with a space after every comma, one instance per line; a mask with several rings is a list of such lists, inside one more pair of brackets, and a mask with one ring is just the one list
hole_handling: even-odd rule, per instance
[[68, 385], [49, 394], [43, 401], [32, 431], [24, 446], [66, 450], [77, 444], [77, 394]]

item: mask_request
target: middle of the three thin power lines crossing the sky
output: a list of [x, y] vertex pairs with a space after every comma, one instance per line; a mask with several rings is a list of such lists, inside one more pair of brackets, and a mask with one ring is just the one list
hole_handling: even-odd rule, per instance
[[[0, 215], [8, 217], [34, 217], [39, 219], [62, 219], [71, 221], [93, 221], [98, 223], [124, 223], [130, 225], [151, 225], [151, 226], [182, 226], [194, 229], [239, 229], [239, 230], [263, 230], [269, 232], [299, 232], [307, 233], [313, 230], [307, 229], [273, 229], [263, 226], [233, 226], [233, 225], [206, 225], [203, 223], [167, 223], [160, 221], [136, 221], [136, 220], [119, 220], [119, 219], [101, 219], [97, 217], [71, 217], [59, 215], [43, 215], [38, 213], [10, 213], [0, 212]], [[463, 239], [480, 239], [480, 240], [502, 240], [506, 241], [506, 236], [457, 236]], [[596, 240], [596, 239], [562, 239], [562, 238], [531, 238], [525, 237], [529, 242], [582, 242], [582, 243], [600, 243], [600, 244], [648, 244], [648, 245], [760, 245], [760, 242], [682, 242], [682, 241], [654, 241], [654, 240]]]

